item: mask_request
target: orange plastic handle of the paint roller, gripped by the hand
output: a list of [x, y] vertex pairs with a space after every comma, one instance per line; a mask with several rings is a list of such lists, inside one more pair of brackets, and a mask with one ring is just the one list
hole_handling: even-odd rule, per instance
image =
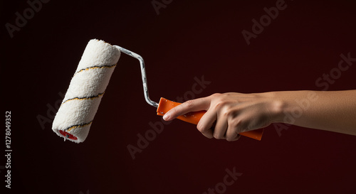
[[[179, 104], [181, 104], [181, 103], [173, 102], [173, 101], [170, 101], [169, 99], [165, 99], [165, 98], [161, 97], [161, 99], [159, 99], [159, 104], [157, 107], [157, 115], [163, 116], [170, 109], [177, 107]], [[184, 122], [189, 122], [191, 124], [198, 124], [199, 120], [201, 119], [201, 117], [203, 117], [203, 115], [205, 113], [206, 113], [205, 110], [201, 110], [198, 112], [189, 112], [187, 114], [177, 117], [177, 119], [180, 119]], [[253, 131], [247, 131], [247, 132], [240, 133], [241, 136], [247, 136], [249, 138], [256, 139], [258, 141], [261, 140], [262, 134], [263, 134], [263, 129], [256, 129]]]

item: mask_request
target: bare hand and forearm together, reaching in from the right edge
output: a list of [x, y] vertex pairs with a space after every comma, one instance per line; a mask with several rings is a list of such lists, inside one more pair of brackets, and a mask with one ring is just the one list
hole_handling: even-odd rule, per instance
[[356, 135], [356, 90], [214, 94], [184, 102], [163, 119], [199, 110], [207, 112], [197, 129], [208, 138], [236, 141], [241, 132], [276, 122]]

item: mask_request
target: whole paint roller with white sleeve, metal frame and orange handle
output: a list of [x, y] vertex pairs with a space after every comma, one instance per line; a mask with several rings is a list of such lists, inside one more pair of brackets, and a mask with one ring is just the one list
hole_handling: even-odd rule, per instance
[[[173, 102], [161, 97], [159, 103], [150, 99], [147, 88], [145, 62], [140, 55], [117, 45], [110, 45], [97, 39], [90, 40], [86, 46], [78, 68], [70, 80], [70, 85], [53, 120], [53, 131], [75, 143], [85, 141], [89, 129], [93, 123], [101, 99], [108, 86], [112, 72], [114, 71], [120, 54], [125, 53], [140, 61], [143, 90], [146, 102], [157, 107], [157, 115], [165, 113], [178, 106], [180, 103]], [[189, 112], [177, 117], [184, 122], [198, 124], [206, 111]], [[252, 139], [261, 140], [263, 129], [241, 133]]]

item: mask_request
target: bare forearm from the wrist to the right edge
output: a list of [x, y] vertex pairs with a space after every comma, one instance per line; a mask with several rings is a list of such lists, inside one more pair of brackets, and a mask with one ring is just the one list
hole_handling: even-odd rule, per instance
[[278, 104], [273, 122], [356, 135], [356, 90], [269, 93]]

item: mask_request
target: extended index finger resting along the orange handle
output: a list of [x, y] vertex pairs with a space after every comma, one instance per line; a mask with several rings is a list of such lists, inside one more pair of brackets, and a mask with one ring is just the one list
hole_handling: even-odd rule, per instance
[[174, 107], [164, 114], [163, 119], [165, 121], [170, 121], [177, 118], [180, 115], [187, 114], [188, 112], [196, 112], [199, 110], [209, 109], [210, 100], [208, 97], [202, 97], [197, 99], [191, 99], [187, 102], [179, 104], [177, 107]]

